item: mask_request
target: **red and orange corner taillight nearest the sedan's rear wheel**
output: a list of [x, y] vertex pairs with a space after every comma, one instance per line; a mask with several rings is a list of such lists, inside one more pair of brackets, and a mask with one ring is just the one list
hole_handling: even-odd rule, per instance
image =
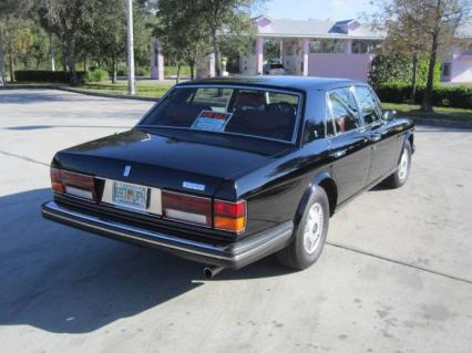
[[246, 201], [215, 200], [214, 226], [216, 229], [239, 232], [246, 228]]

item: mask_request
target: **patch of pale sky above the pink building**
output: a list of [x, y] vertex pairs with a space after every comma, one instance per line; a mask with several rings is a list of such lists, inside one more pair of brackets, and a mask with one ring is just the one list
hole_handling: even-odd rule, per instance
[[291, 20], [349, 20], [376, 9], [370, 0], [267, 0], [265, 8], [268, 17]]

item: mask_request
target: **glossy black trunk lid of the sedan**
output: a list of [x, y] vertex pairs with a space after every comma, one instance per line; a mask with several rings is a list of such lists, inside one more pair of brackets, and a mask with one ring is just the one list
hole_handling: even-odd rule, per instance
[[213, 196], [224, 180], [291, 148], [225, 134], [133, 128], [61, 150], [53, 164], [98, 177]]

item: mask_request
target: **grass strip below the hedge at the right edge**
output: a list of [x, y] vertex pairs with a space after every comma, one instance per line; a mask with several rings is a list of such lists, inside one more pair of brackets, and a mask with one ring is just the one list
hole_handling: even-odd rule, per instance
[[382, 103], [386, 110], [396, 110], [400, 115], [409, 117], [422, 118], [442, 118], [454, 121], [472, 122], [472, 110], [463, 110], [458, 107], [435, 106], [433, 113], [420, 112], [420, 105], [417, 104], [399, 104], [399, 103]]

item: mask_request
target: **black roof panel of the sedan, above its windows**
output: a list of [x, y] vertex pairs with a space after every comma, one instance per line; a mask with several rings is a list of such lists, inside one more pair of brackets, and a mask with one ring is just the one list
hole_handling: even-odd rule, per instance
[[365, 82], [349, 79], [257, 75], [202, 79], [178, 83], [177, 86], [186, 86], [194, 84], [269, 86], [275, 89], [288, 89], [298, 91], [327, 91], [348, 85], [367, 85]]

